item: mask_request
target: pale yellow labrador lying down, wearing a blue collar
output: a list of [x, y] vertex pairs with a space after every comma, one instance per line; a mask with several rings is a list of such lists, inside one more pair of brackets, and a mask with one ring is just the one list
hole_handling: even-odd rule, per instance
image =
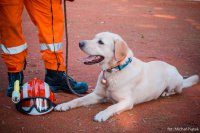
[[115, 103], [94, 117], [95, 121], [102, 122], [136, 104], [181, 93], [183, 88], [199, 81], [198, 75], [183, 79], [174, 66], [165, 62], [137, 59], [126, 42], [114, 33], [99, 33], [92, 40], [81, 41], [79, 47], [89, 55], [83, 59], [84, 64], [98, 63], [102, 68], [96, 88], [84, 97], [57, 105], [56, 111], [110, 99]]

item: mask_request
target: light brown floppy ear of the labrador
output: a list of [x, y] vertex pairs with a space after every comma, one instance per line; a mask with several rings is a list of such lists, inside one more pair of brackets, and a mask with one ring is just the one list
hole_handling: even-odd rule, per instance
[[115, 60], [121, 61], [128, 53], [128, 46], [125, 41], [119, 39], [115, 40], [114, 46]]

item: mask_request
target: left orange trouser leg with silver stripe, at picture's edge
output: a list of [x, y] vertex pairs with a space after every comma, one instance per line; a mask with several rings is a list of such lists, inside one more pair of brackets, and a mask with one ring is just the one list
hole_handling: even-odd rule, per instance
[[21, 28], [22, 10], [23, 0], [0, 0], [1, 57], [9, 72], [23, 70], [27, 54]]

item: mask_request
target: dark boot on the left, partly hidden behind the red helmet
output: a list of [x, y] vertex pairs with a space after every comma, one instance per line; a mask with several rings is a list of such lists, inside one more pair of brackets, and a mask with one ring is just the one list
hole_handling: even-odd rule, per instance
[[20, 85], [20, 88], [21, 88], [21, 86], [23, 85], [23, 80], [24, 80], [23, 71], [14, 72], [14, 73], [8, 72], [9, 84], [8, 84], [8, 88], [7, 88], [7, 96], [9, 96], [9, 97], [12, 96], [12, 92], [14, 90], [14, 83], [15, 83], [16, 80], [19, 80], [19, 85]]

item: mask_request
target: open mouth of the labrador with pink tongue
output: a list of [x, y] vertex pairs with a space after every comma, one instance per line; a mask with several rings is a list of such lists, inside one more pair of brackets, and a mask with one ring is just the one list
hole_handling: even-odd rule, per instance
[[101, 55], [89, 55], [88, 57], [81, 59], [81, 61], [85, 65], [93, 65], [96, 63], [100, 63], [103, 60], [104, 60], [104, 57]]

